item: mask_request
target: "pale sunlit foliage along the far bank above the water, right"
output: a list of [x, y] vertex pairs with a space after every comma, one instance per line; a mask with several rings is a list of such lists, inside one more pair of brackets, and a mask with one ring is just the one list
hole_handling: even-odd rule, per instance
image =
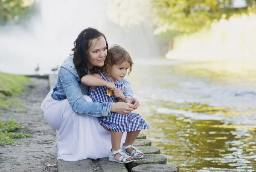
[[[208, 54], [217, 56], [232, 54], [233, 57], [256, 54], [256, 14], [233, 15], [229, 20], [214, 20], [210, 29], [175, 37], [174, 49], [169, 52]], [[227, 43], [228, 42], [228, 43]]]

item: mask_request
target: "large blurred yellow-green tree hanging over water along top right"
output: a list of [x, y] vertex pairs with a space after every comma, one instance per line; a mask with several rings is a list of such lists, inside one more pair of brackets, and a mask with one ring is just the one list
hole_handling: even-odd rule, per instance
[[[236, 0], [105, 0], [108, 18], [123, 28], [145, 23], [154, 28], [160, 42], [172, 46], [174, 37], [190, 34], [210, 26], [214, 19], [225, 14], [256, 12], [255, 0], [244, 0], [234, 7]], [[241, 1], [240, 1], [241, 2]], [[170, 42], [171, 41], [171, 42]], [[169, 47], [168, 49], [171, 49]]]

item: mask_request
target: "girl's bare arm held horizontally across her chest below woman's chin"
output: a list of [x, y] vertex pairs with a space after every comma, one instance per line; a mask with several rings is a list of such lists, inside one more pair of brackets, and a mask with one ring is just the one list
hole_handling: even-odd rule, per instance
[[114, 82], [108, 82], [100, 78], [100, 75], [98, 73], [94, 73], [92, 75], [85, 75], [81, 78], [81, 82], [84, 85], [88, 85], [91, 87], [98, 87], [98, 86], [105, 86], [109, 89], [115, 88]]

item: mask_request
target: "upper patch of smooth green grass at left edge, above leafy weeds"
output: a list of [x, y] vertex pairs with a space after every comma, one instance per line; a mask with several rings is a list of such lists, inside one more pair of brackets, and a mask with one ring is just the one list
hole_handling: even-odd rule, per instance
[[8, 109], [13, 104], [22, 106], [16, 99], [10, 101], [7, 98], [22, 93], [27, 84], [29, 78], [25, 76], [0, 72], [0, 109]]

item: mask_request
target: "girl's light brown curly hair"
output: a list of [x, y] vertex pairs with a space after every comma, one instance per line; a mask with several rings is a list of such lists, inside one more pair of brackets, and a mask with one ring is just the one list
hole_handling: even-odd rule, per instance
[[102, 67], [102, 72], [105, 76], [110, 76], [111, 67], [113, 65], [121, 65], [123, 62], [130, 63], [128, 75], [131, 73], [132, 65], [134, 62], [131, 59], [130, 54], [125, 48], [122, 48], [120, 45], [112, 45], [108, 49], [108, 55], [105, 59], [104, 66]]

